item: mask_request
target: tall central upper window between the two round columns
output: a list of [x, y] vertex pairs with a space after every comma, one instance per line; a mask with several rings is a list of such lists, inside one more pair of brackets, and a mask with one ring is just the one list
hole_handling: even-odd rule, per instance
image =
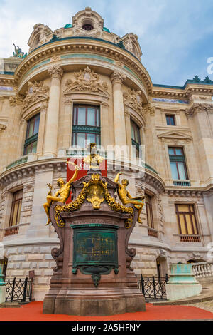
[[100, 110], [97, 106], [74, 105], [72, 118], [72, 145], [95, 142], [101, 144]]

